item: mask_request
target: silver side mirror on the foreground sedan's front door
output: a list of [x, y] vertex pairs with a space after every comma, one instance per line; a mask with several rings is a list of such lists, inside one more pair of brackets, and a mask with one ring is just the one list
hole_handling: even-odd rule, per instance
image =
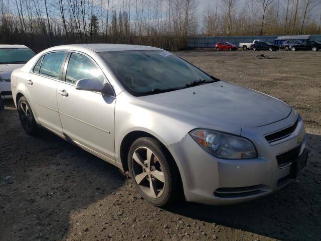
[[109, 83], [102, 84], [97, 78], [81, 79], [76, 82], [76, 89], [96, 91], [102, 94], [114, 95], [114, 91]]

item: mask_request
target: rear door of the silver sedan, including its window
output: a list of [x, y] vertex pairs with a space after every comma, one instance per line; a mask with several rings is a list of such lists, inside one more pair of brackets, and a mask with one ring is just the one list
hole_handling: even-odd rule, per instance
[[44, 127], [62, 134], [58, 113], [57, 87], [67, 52], [52, 52], [42, 56], [27, 79], [27, 96], [38, 121]]

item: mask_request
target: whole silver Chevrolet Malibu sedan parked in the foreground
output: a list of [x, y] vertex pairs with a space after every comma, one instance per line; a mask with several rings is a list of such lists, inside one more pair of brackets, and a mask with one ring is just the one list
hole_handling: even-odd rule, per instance
[[11, 76], [24, 130], [39, 127], [129, 171], [156, 206], [180, 197], [232, 204], [268, 195], [306, 165], [288, 104], [217, 79], [162, 49], [65, 45]]

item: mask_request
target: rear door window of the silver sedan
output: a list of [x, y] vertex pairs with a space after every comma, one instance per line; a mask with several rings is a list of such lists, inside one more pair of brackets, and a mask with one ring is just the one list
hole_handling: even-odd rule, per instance
[[66, 56], [66, 52], [46, 54], [42, 61], [39, 73], [58, 79], [61, 74], [61, 66]]

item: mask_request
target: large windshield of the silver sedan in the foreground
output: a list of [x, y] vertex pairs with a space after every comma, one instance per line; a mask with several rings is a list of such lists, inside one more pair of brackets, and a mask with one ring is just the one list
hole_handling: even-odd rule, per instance
[[134, 96], [218, 81], [180, 57], [162, 50], [101, 52], [123, 87]]

